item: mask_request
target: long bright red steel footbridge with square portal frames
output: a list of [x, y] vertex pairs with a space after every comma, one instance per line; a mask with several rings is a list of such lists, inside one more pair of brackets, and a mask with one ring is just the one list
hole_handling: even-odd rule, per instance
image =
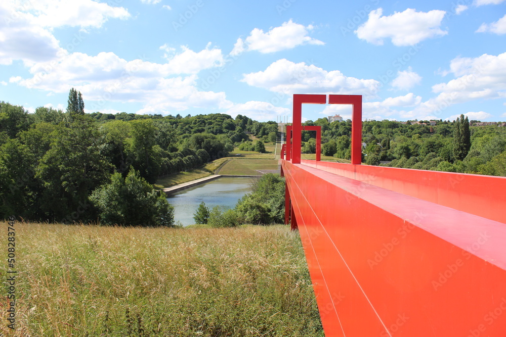
[[[301, 160], [303, 104], [353, 106], [351, 164]], [[361, 115], [293, 95], [281, 157], [325, 335], [506, 336], [506, 178], [361, 165]]]

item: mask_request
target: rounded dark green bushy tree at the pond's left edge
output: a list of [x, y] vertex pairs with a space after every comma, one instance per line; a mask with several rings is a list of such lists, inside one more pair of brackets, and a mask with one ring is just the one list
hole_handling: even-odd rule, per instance
[[103, 224], [174, 226], [174, 207], [135, 170], [124, 179], [114, 173], [108, 183], [93, 191], [90, 200], [99, 209]]

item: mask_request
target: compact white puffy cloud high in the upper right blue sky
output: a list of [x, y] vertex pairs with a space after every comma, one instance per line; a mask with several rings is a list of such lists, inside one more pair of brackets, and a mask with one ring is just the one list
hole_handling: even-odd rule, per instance
[[408, 8], [404, 12], [395, 12], [382, 16], [383, 9], [369, 13], [369, 19], [355, 31], [357, 36], [367, 42], [383, 45], [385, 38], [391, 38], [397, 46], [413, 45], [427, 38], [443, 36], [448, 32], [441, 30], [441, 21], [445, 11], [416, 12]]

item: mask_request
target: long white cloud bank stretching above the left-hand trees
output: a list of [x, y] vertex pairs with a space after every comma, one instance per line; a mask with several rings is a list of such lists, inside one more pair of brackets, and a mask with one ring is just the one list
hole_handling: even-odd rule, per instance
[[[100, 102], [143, 103], [139, 113], [170, 113], [195, 108], [229, 109], [232, 103], [224, 92], [199, 91], [196, 73], [215, 67], [221, 51], [206, 48], [193, 52], [186, 47], [164, 64], [145, 60], [126, 61], [114, 53], [89, 56], [66, 55], [58, 62], [37, 63], [32, 77], [12, 77], [11, 82], [27, 88], [64, 93], [69, 87], [82, 92], [87, 100], [99, 102], [88, 108], [99, 111]], [[189, 75], [185, 75], [189, 74]]]

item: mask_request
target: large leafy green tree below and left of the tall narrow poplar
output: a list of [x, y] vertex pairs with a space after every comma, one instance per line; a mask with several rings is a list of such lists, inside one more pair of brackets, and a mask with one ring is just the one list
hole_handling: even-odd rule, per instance
[[52, 135], [51, 148], [36, 169], [45, 188], [41, 209], [56, 221], [93, 218], [89, 195], [112, 171], [100, 153], [97, 125], [89, 116], [76, 115], [73, 123], [60, 124]]

